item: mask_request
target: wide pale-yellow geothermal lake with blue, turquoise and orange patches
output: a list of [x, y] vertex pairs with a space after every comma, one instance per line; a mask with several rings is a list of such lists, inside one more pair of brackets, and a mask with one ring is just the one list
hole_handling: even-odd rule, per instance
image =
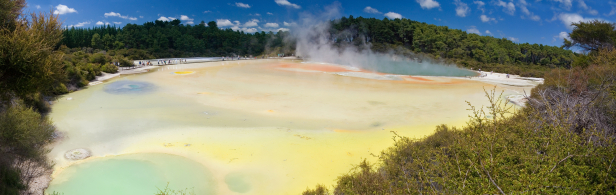
[[[331, 186], [362, 159], [377, 162], [370, 154], [392, 146], [390, 131], [419, 138], [439, 124], [463, 126], [465, 101], [486, 105], [484, 87], [493, 86], [291, 60], [122, 75], [54, 103], [50, 116], [63, 138], [49, 154], [56, 166], [47, 193], [154, 194], [169, 185], [195, 194], [300, 194]], [[77, 148], [92, 157], [64, 157]]]

